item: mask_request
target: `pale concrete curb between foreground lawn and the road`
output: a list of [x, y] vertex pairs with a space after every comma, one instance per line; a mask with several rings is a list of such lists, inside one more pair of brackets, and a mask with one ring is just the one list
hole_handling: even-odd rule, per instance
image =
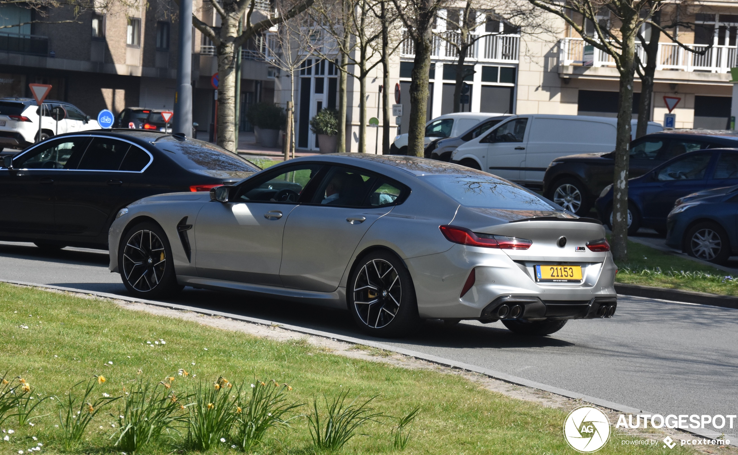
[[[14, 284], [14, 285], [32, 286], [35, 288], [56, 289], [58, 291], [68, 291], [68, 292], [74, 292], [77, 294], [104, 297], [107, 299], [123, 300], [124, 302], [144, 303], [147, 305], [155, 305], [158, 307], [172, 308], [175, 310], [189, 310], [189, 311], [193, 311], [194, 313], [207, 314], [209, 316], [223, 316], [223, 317], [227, 317], [230, 319], [234, 319], [236, 321], [251, 322], [253, 324], [262, 324], [262, 325], [267, 325], [267, 326], [278, 325], [279, 327], [285, 330], [292, 330], [297, 333], [306, 333], [307, 335], [320, 336], [323, 338], [331, 338], [331, 339], [338, 340], [338, 341], [345, 341], [351, 344], [364, 344], [365, 346], [376, 347], [378, 349], [387, 350], [391, 352], [398, 352], [399, 354], [402, 354], [402, 355], [407, 355], [409, 357], [418, 358], [424, 361], [429, 361], [433, 364], [442, 365], [444, 367], [463, 369], [465, 371], [476, 372], [481, 375], [489, 376], [489, 378], [499, 379], [500, 381], [505, 381], [507, 383], [512, 383], [512, 384], [516, 384], [519, 386], [531, 387], [533, 389], [539, 389], [545, 392], [551, 392], [556, 395], [562, 395], [563, 397], [573, 398], [574, 400], [582, 400], [587, 403], [592, 403], [597, 406], [601, 406], [603, 408], [612, 409], [613, 411], [623, 412], [624, 414], [655, 414], [654, 412], [647, 412], [642, 409], [633, 408], [631, 406], [625, 406], [623, 404], [613, 403], [612, 401], [602, 400], [601, 398], [590, 397], [589, 395], [584, 395], [578, 392], [571, 392], [570, 390], [559, 389], [559, 387], [549, 386], [547, 384], [539, 383], [536, 381], [530, 381], [525, 378], [519, 378], [517, 376], [508, 375], [507, 373], [498, 372], [493, 369], [477, 367], [476, 365], [464, 364], [462, 362], [452, 361], [450, 359], [438, 357], [436, 355], [424, 354], [423, 352], [407, 350], [401, 347], [391, 346], [390, 344], [383, 344], [383, 343], [377, 343], [376, 341], [362, 340], [361, 338], [354, 338], [351, 336], [339, 335], [337, 333], [323, 332], [322, 330], [314, 330], [314, 329], [309, 329], [306, 327], [298, 327], [298, 326], [294, 326], [290, 324], [278, 324], [272, 321], [267, 321], [266, 319], [251, 318], [249, 316], [241, 316], [238, 314], [224, 313], [222, 311], [204, 310], [202, 308], [190, 307], [187, 305], [157, 302], [155, 300], [136, 299], [134, 297], [121, 296], [118, 294], [108, 294], [106, 292], [85, 291], [84, 289], [63, 288], [61, 286], [53, 286], [53, 285], [41, 285], [41, 284], [32, 283], [32, 282], [15, 281], [12, 279], [0, 279], [0, 282], [7, 282], [10, 284]], [[708, 439], [714, 439], [714, 437], [719, 436], [719, 434], [717, 433], [716, 434], [708, 434], [708, 433], [703, 434], [703, 433], [697, 433], [696, 431], [687, 431], [682, 428], [679, 428], [679, 430], [685, 433], [697, 435], [699, 437], [706, 437]]]

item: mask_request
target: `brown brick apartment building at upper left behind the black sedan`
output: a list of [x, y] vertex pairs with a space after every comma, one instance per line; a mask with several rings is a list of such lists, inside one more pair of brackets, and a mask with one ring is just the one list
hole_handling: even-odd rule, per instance
[[[217, 13], [194, 2], [196, 14], [219, 25]], [[269, 2], [257, 1], [255, 18], [269, 14]], [[105, 11], [52, 10], [46, 17], [13, 5], [0, 7], [0, 97], [30, 97], [29, 83], [52, 85], [49, 99], [77, 105], [96, 117], [104, 109], [125, 107], [173, 109], [178, 49], [178, 7], [171, 0], [111, 2]], [[72, 22], [62, 22], [72, 21]], [[56, 23], [54, 23], [56, 22]], [[213, 122], [218, 72], [215, 48], [193, 29], [193, 121], [207, 132]], [[241, 100], [245, 109], [258, 100], [273, 100], [274, 78], [259, 52], [244, 49]], [[243, 116], [242, 116], [243, 117]], [[249, 128], [245, 119], [242, 129]]]

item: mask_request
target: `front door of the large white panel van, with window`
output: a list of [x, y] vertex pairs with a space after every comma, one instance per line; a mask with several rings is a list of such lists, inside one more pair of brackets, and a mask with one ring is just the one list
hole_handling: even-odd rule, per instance
[[487, 172], [513, 181], [523, 178], [530, 120], [530, 117], [508, 120], [480, 140], [480, 144], [487, 144]]

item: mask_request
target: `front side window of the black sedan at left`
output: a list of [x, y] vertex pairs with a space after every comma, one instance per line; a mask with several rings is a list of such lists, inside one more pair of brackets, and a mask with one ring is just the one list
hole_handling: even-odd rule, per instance
[[85, 153], [89, 136], [65, 137], [49, 141], [13, 160], [18, 169], [74, 169]]

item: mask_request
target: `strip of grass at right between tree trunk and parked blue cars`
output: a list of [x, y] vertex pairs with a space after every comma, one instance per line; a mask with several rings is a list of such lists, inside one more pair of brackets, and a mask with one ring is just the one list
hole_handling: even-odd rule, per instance
[[615, 282], [738, 296], [738, 280], [710, 265], [628, 242], [628, 261], [618, 263]]

